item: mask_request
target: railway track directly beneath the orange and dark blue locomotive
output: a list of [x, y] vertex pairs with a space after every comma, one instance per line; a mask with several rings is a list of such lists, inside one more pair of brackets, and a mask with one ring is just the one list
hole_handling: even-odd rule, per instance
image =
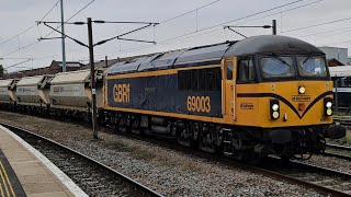
[[297, 161], [284, 162], [276, 158], [268, 158], [267, 160], [263, 160], [262, 163], [264, 163], [264, 165], [249, 165], [230, 160], [228, 158], [189, 149], [176, 143], [165, 142], [163, 140], [155, 140], [138, 135], [118, 135], [131, 139], [138, 139], [144, 141], [146, 140], [157, 146], [167, 147], [172, 150], [184, 152], [185, 154], [192, 154], [215, 163], [222, 163], [228, 167], [240, 167], [245, 171], [301, 185], [307, 188], [315, 189], [321, 194], [325, 194], [326, 196], [351, 196], [351, 174], [348, 173]]

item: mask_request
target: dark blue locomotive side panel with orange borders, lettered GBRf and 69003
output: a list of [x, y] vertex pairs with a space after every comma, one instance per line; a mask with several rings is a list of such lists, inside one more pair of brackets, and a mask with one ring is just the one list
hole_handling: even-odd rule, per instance
[[[204, 83], [201, 90], [191, 88], [180, 90], [179, 73], [182, 71], [210, 72], [205, 76], [216, 72], [217, 79], [197, 79], [200, 83]], [[204, 74], [197, 73], [197, 76], [203, 77]], [[205, 83], [211, 83], [211, 80], [216, 80], [219, 88], [210, 86], [206, 90]], [[220, 123], [223, 119], [220, 83], [219, 65], [192, 69], [169, 69], [107, 77], [104, 95], [107, 109], [206, 121], [213, 119]]]

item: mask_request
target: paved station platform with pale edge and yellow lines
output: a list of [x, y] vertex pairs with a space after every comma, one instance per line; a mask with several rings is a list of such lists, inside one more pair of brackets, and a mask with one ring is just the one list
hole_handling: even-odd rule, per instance
[[0, 125], [0, 196], [88, 196], [66, 174]]

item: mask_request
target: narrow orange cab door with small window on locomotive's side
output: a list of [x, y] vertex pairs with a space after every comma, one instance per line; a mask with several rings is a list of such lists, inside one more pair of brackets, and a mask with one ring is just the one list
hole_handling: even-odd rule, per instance
[[224, 115], [229, 123], [235, 121], [235, 84], [237, 73], [237, 58], [228, 58], [224, 60], [223, 67], [224, 81]]

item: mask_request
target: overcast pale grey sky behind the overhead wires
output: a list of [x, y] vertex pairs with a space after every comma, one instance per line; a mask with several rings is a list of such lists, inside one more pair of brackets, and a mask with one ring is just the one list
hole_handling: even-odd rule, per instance
[[[61, 60], [60, 39], [37, 42], [37, 38], [52, 31], [44, 25], [35, 25], [35, 21], [42, 20], [56, 2], [57, 0], [0, 0], [0, 58], [3, 58], [0, 65], [7, 68], [26, 61], [8, 71], [46, 67], [53, 59]], [[69, 19], [89, 2], [91, 0], [64, 0], [65, 19]], [[59, 21], [59, 9], [58, 3], [44, 21]], [[156, 45], [115, 39], [94, 48], [95, 60], [104, 59], [104, 56], [112, 59], [242, 39], [234, 32], [224, 30], [223, 25], [264, 25], [271, 24], [273, 19], [278, 21], [278, 34], [301, 38], [317, 46], [351, 48], [350, 0], [95, 0], [70, 22], [87, 21], [89, 16], [92, 20], [160, 23], [125, 36], [155, 39]], [[174, 16], [179, 18], [169, 20]], [[329, 24], [307, 27], [320, 23]], [[8, 40], [29, 27], [32, 28]], [[97, 43], [138, 27], [140, 25], [137, 24], [93, 24], [93, 39]], [[88, 43], [86, 25], [66, 25], [65, 30], [69, 36]], [[247, 36], [271, 34], [271, 30], [263, 28], [236, 30]], [[54, 33], [48, 37], [58, 36], [59, 34]], [[89, 59], [88, 49], [69, 39], [66, 39], [66, 51], [68, 61]], [[32, 60], [27, 61], [26, 58]]]

